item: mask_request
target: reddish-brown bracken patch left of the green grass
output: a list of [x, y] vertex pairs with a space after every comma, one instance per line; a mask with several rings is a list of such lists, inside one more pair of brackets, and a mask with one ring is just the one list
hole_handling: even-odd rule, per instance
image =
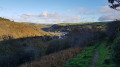
[[39, 60], [23, 64], [20, 67], [60, 67], [70, 58], [76, 57], [77, 54], [81, 53], [81, 51], [82, 48], [70, 48], [58, 53], [41, 57]]

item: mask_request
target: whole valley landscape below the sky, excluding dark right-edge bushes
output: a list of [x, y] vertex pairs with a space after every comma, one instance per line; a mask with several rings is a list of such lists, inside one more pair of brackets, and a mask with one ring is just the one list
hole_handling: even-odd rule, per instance
[[108, 36], [114, 23], [116, 30], [119, 21], [45, 26], [1, 18], [0, 66], [115, 67], [110, 51], [117, 37]]

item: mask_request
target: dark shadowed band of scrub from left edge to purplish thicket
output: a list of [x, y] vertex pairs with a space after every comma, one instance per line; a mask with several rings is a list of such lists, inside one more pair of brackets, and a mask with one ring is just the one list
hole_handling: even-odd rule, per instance
[[91, 45], [106, 36], [103, 28], [98, 26], [71, 28], [71, 32], [64, 39], [51, 40], [49, 36], [40, 36], [1, 41], [0, 67], [17, 67], [46, 54]]

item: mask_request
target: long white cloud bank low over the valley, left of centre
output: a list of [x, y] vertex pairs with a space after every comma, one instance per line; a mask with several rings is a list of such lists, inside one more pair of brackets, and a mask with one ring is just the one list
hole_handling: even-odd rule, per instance
[[33, 23], [77, 23], [80, 22], [80, 15], [64, 15], [56, 12], [43, 11], [40, 14], [25, 13], [19, 18], [14, 18], [17, 22]]

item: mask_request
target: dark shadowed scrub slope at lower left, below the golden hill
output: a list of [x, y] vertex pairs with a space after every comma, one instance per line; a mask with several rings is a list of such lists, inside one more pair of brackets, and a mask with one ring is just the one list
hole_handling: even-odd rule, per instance
[[45, 55], [49, 36], [11, 39], [0, 42], [0, 67], [17, 67]]

